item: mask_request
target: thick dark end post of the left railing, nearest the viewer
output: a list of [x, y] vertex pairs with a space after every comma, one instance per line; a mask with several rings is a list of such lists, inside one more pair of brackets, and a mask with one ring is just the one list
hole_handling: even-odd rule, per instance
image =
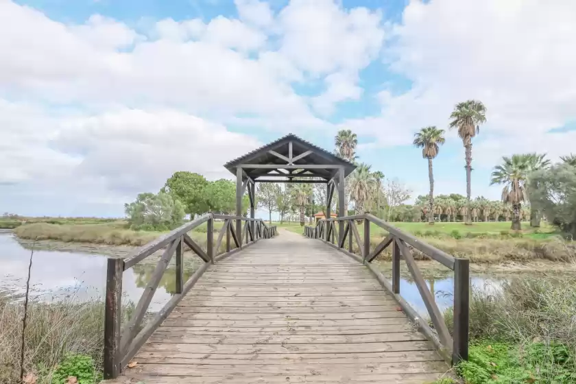
[[108, 259], [104, 314], [104, 379], [120, 374], [120, 333], [122, 323], [123, 259]]

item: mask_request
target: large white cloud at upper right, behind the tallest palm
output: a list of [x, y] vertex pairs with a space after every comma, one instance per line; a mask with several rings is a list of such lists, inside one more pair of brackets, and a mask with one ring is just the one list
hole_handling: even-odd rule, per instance
[[412, 0], [386, 51], [411, 90], [382, 93], [381, 116], [349, 124], [381, 145], [409, 143], [422, 126], [446, 128], [454, 104], [476, 98], [488, 123], [475, 158], [491, 166], [518, 151], [557, 156], [571, 134], [546, 132], [576, 117], [575, 19], [568, 0]]

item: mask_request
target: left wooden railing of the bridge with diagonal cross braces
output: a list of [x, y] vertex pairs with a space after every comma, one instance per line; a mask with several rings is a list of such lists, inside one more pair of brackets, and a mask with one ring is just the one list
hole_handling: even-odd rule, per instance
[[[224, 222], [217, 233], [217, 239], [215, 239], [214, 225], [217, 220], [223, 220]], [[233, 221], [244, 223], [241, 233], [236, 232]], [[188, 234], [188, 232], [204, 223], [206, 223], [207, 227], [206, 250]], [[269, 239], [275, 235], [276, 227], [266, 226], [261, 219], [206, 213], [206, 215], [198, 217], [147, 243], [125, 259], [108, 259], [104, 317], [104, 379], [115, 379], [119, 375], [148, 337], [165, 320], [178, 302], [186, 296], [211, 264], [252, 245], [260, 239]], [[226, 251], [218, 255], [224, 236], [226, 236]], [[187, 281], [184, 281], [184, 246], [192, 250], [204, 261], [204, 264]], [[160, 260], [158, 260], [134, 312], [130, 319], [125, 324], [122, 324], [123, 272], [162, 249], [164, 249], [164, 252], [160, 256]], [[152, 297], [174, 254], [176, 254], [176, 292], [163, 309], [156, 313], [152, 320], [142, 326]]]

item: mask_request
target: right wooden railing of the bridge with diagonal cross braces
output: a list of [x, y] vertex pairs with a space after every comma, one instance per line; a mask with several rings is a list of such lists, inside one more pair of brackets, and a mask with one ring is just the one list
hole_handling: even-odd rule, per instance
[[[356, 222], [363, 225], [363, 236], [360, 235]], [[337, 225], [338, 224], [338, 225]], [[371, 249], [370, 246], [370, 224], [375, 224], [388, 232], [388, 235]], [[339, 234], [338, 228], [341, 233]], [[362, 215], [337, 217], [334, 219], [322, 219], [315, 227], [305, 227], [304, 235], [311, 239], [322, 239], [322, 241], [339, 249], [341, 252], [352, 256], [357, 261], [367, 265], [370, 271], [376, 276], [381, 285], [387, 289], [398, 302], [408, 317], [418, 324], [418, 327], [435, 346], [442, 352], [444, 357], [451, 359], [455, 364], [461, 360], [468, 360], [468, 318], [470, 300], [470, 272], [468, 259], [459, 259], [446, 254], [446, 252], [434, 248], [387, 222], [365, 213]], [[346, 250], [348, 243], [348, 250]], [[357, 243], [358, 254], [354, 253], [354, 243]], [[438, 308], [430, 289], [426, 285], [422, 273], [416, 264], [409, 245], [425, 254], [433, 261], [448, 267], [453, 271], [454, 276], [454, 302], [453, 302], [453, 331], [452, 335], [448, 331], [448, 326], [444, 321], [444, 316]], [[381, 274], [378, 268], [372, 265], [372, 261], [381, 254], [385, 248], [392, 246], [392, 282], [389, 282]], [[400, 293], [400, 260], [403, 259], [408, 270], [418, 287], [420, 297], [424, 302], [430, 316], [434, 330], [422, 319], [416, 311], [404, 300]]]

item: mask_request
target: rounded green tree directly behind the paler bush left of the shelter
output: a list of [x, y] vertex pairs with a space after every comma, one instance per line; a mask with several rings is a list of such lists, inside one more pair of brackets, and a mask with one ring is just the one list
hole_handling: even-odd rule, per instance
[[186, 213], [194, 216], [209, 211], [206, 187], [208, 187], [208, 181], [204, 176], [188, 171], [178, 171], [166, 180], [162, 191], [177, 197], [186, 206]]

